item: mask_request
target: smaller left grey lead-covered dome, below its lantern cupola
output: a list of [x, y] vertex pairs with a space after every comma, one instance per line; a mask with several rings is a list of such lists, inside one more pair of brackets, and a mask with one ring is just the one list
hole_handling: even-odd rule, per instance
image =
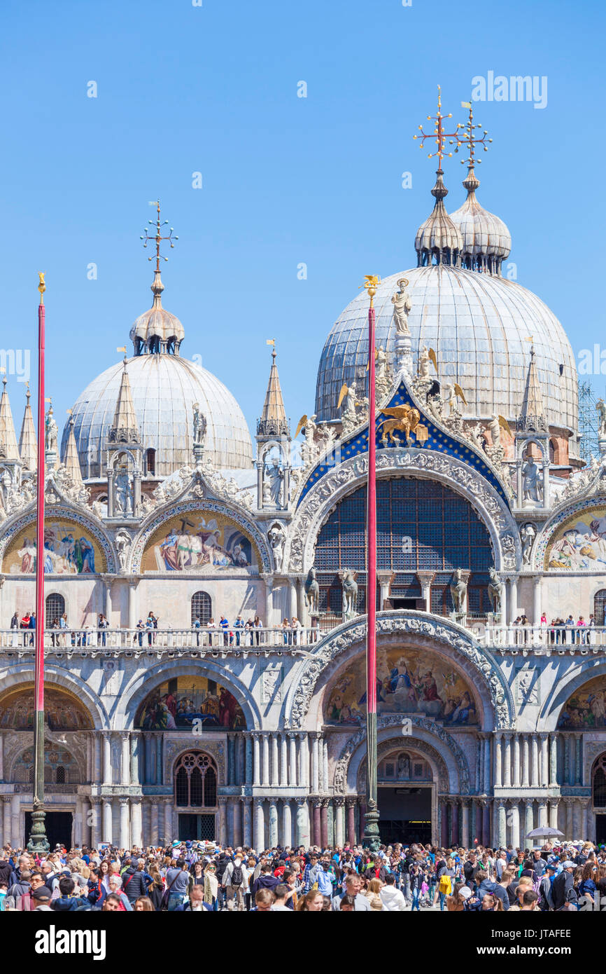
[[[216, 468], [252, 467], [252, 443], [242, 411], [211, 372], [175, 355], [134, 356], [126, 369], [141, 441], [145, 450], [156, 451], [158, 476], [193, 465], [195, 402], [206, 418], [205, 456]], [[74, 435], [85, 478], [104, 475], [103, 442], [114, 419], [122, 375], [122, 362], [110, 366], [74, 405]], [[66, 427], [63, 447], [68, 434]]]

